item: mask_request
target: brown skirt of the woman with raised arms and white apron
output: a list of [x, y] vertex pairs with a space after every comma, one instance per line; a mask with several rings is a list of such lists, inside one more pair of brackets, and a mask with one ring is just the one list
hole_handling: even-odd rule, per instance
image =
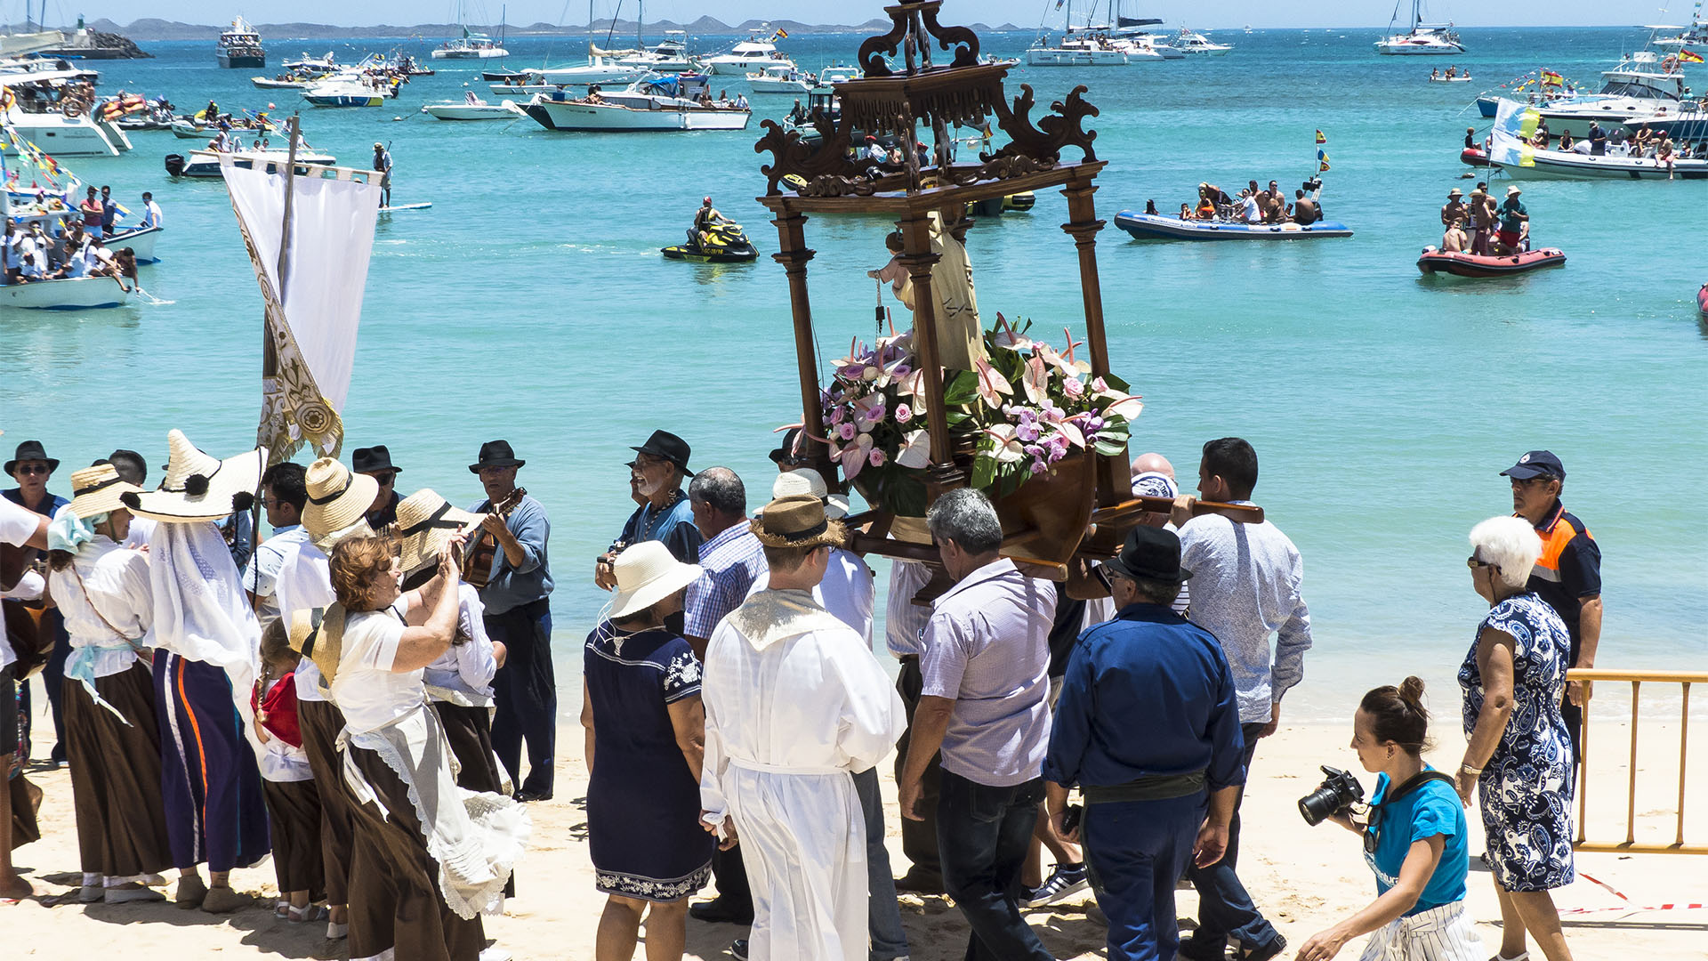
[[350, 862], [350, 956], [372, 958], [388, 947], [410, 961], [478, 961], [487, 944], [480, 915], [456, 917], [439, 894], [439, 865], [427, 853], [410, 788], [372, 751], [348, 746], [357, 769], [384, 799], [350, 809], [355, 857]]

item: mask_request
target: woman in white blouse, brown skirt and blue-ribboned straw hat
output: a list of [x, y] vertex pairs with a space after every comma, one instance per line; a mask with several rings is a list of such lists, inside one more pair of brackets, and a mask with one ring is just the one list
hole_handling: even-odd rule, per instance
[[72, 503], [48, 527], [48, 590], [72, 638], [65, 740], [85, 903], [162, 901], [147, 882], [173, 864], [142, 646], [154, 622], [149, 559], [120, 547], [130, 534], [120, 496], [137, 489], [109, 463], [79, 470]]

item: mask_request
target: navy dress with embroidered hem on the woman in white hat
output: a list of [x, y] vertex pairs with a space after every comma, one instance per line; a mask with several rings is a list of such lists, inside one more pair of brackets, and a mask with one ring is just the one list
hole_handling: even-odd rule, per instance
[[700, 696], [700, 662], [663, 628], [629, 634], [606, 621], [588, 634], [582, 675], [593, 699], [588, 848], [598, 889], [680, 901], [712, 874], [700, 785], [668, 708]]

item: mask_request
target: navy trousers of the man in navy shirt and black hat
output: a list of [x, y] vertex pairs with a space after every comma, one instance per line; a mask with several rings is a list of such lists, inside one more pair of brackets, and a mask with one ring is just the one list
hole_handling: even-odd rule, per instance
[[1173, 961], [1175, 882], [1192, 864], [1206, 792], [1085, 805], [1085, 860], [1108, 917], [1108, 961]]

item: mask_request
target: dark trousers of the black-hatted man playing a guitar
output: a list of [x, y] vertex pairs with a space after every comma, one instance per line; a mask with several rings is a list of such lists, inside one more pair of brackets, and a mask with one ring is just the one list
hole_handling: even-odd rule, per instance
[[[492, 751], [518, 790], [552, 793], [557, 749], [557, 679], [552, 672], [552, 605], [547, 598], [487, 614], [487, 636], [506, 648], [492, 675]], [[523, 778], [523, 740], [528, 778]]]

